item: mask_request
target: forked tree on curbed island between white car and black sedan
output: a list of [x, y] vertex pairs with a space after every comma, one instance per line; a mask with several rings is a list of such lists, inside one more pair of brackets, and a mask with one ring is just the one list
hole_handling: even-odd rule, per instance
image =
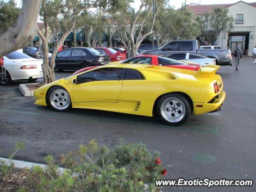
[[[58, 50], [60, 46], [63, 45], [65, 38], [68, 36], [68, 34], [70, 34], [70, 32], [72, 32], [72, 30], [76, 26], [76, 20], [78, 19], [78, 17], [80, 17], [80, 13], [84, 8], [86, 8], [86, 5], [86, 0], [43, 0], [41, 16], [44, 20], [44, 32], [38, 32], [40, 38], [42, 39], [44, 47], [44, 58], [42, 65], [44, 82], [41, 85], [48, 84], [55, 80], [54, 66]], [[59, 30], [62, 32], [62, 35], [58, 38], [58, 42], [56, 42], [56, 47], [52, 53], [49, 66], [48, 38], [50, 30], [50, 20], [52, 20], [53, 23], [57, 22], [54, 26], [58, 26]]]

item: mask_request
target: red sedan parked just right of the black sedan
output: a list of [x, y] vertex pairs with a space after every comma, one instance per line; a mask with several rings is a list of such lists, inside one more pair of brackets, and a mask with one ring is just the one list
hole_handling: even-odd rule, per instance
[[122, 51], [122, 50], [114, 50], [112, 48], [94, 48], [96, 49], [98, 52], [100, 52], [100, 54], [102, 55], [109, 55], [110, 56], [110, 60], [111, 61], [122, 61], [122, 60], [126, 60], [126, 50]]

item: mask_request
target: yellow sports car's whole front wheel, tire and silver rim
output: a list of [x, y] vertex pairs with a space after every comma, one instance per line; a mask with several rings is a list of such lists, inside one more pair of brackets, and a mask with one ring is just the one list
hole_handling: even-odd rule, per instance
[[48, 105], [56, 111], [66, 111], [72, 106], [70, 95], [61, 86], [52, 87], [47, 94]]

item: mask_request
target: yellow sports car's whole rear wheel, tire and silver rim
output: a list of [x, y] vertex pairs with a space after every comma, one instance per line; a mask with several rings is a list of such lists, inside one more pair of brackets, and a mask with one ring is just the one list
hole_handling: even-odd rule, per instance
[[156, 106], [158, 116], [171, 126], [185, 123], [191, 116], [192, 108], [182, 94], [167, 94], [160, 98]]

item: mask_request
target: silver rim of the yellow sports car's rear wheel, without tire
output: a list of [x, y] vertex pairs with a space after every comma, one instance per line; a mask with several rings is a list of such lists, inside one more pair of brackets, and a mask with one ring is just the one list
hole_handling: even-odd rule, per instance
[[176, 97], [165, 99], [160, 107], [162, 117], [169, 122], [178, 122], [184, 118], [186, 108], [184, 102]]

